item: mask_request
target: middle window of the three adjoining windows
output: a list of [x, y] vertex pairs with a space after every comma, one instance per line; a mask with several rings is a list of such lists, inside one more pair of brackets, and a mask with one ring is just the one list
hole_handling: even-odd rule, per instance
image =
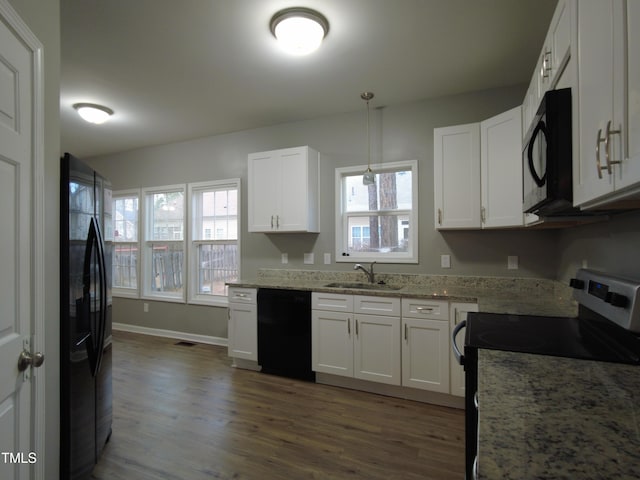
[[143, 190], [143, 295], [184, 299], [184, 186]]

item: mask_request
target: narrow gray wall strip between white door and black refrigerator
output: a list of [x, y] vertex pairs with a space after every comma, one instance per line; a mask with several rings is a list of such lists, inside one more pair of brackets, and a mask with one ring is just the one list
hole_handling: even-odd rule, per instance
[[[60, 452], [60, 2], [9, 0], [44, 48], [44, 162], [45, 162], [45, 435], [46, 450], [36, 452], [45, 462], [45, 477], [58, 477]], [[40, 370], [41, 371], [41, 370]]]

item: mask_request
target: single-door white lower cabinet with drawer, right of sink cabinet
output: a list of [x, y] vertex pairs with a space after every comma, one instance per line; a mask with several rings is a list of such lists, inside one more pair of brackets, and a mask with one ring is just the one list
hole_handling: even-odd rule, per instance
[[402, 299], [402, 385], [449, 393], [449, 303]]

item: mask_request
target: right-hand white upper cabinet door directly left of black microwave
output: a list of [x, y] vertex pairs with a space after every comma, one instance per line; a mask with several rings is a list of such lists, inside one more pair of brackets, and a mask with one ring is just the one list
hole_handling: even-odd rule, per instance
[[482, 226], [521, 226], [522, 108], [484, 120], [480, 131]]

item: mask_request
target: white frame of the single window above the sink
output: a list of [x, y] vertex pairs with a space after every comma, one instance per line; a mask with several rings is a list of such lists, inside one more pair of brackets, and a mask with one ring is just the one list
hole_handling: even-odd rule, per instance
[[[387, 173], [400, 170], [411, 171], [411, 208], [397, 210], [376, 210], [378, 214], [392, 214], [409, 217], [409, 251], [408, 252], [350, 252], [347, 248], [349, 238], [348, 220], [350, 216], [369, 215], [370, 210], [346, 212], [347, 199], [345, 177], [362, 175], [366, 165], [340, 167], [335, 169], [335, 261], [336, 263], [377, 262], [377, 263], [418, 263], [418, 228], [419, 228], [419, 195], [418, 195], [418, 161], [403, 160], [382, 164], [374, 169], [374, 173]], [[346, 255], [343, 255], [347, 253]]]

